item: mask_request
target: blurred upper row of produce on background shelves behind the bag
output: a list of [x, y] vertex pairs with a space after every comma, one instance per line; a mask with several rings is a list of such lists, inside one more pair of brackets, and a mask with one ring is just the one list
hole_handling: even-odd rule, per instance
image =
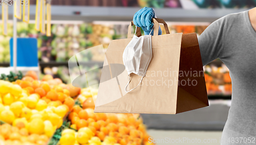
[[[126, 38], [128, 25], [129, 23], [111, 22], [74, 24], [70, 21], [70, 24], [52, 24], [52, 36], [47, 37], [36, 32], [34, 24], [18, 22], [17, 36], [37, 38], [38, 59], [40, 62], [68, 62], [71, 56], [82, 50], [101, 44], [106, 49], [112, 40]], [[206, 27], [169, 25], [169, 29], [173, 33], [197, 32], [201, 34]], [[163, 29], [162, 25], [161, 28]], [[8, 25], [8, 32], [12, 32], [11, 24]], [[163, 31], [163, 34], [165, 34], [165, 31]], [[10, 62], [9, 40], [11, 37], [12, 33], [8, 34], [8, 36], [0, 36], [0, 63]], [[84, 62], [102, 62], [104, 54], [92, 50], [84, 53], [82, 58]]]

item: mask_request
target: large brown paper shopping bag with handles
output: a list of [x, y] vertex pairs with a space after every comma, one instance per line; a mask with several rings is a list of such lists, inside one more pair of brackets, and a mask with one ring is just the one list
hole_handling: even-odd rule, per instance
[[[111, 41], [105, 53], [94, 112], [176, 114], [209, 105], [196, 33], [169, 34], [162, 19], [153, 22], [155, 27], [163, 23], [166, 35], [152, 36], [153, 58], [146, 76], [129, 93], [124, 91], [129, 80], [122, 54], [132, 40], [133, 22], [127, 39]], [[154, 34], [158, 34], [157, 28]], [[137, 36], [140, 35], [137, 29]], [[141, 76], [132, 73], [129, 88], [135, 88], [140, 79]]]

